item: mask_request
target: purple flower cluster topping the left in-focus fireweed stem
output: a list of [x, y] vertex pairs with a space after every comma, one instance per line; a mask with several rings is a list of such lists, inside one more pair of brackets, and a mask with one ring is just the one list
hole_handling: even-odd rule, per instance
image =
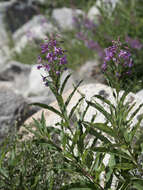
[[66, 70], [66, 51], [59, 47], [60, 43], [62, 41], [50, 39], [48, 42], [41, 44], [41, 54], [38, 56], [39, 65], [37, 69], [44, 68], [47, 71], [48, 76], [43, 77], [44, 82], [46, 82], [47, 77], [54, 80], [54, 77]]

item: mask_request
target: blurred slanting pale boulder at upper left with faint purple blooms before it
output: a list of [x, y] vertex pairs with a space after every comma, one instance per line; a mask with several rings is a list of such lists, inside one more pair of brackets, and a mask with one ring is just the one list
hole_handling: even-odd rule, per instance
[[45, 39], [47, 34], [56, 31], [55, 27], [43, 15], [34, 16], [30, 21], [16, 30], [13, 34], [15, 48], [13, 51], [21, 52], [28, 43], [36, 39]]

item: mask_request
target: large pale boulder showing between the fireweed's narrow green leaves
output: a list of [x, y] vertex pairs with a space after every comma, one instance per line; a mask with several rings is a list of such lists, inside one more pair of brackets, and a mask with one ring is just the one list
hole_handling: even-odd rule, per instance
[[[71, 89], [69, 91], [67, 91], [63, 97], [64, 97], [64, 100], [67, 99], [67, 97], [70, 95], [71, 93]], [[98, 94], [98, 95], [101, 95], [107, 99], [109, 99], [114, 105], [115, 105], [115, 101], [114, 101], [114, 98], [113, 98], [113, 95], [112, 95], [112, 90], [110, 87], [106, 86], [106, 85], [103, 85], [103, 84], [87, 84], [87, 85], [83, 85], [81, 87], [79, 87], [78, 91], [82, 94], [85, 94], [85, 98], [86, 100], [91, 100], [92, 99], [92, 96], [94, 96], [95, 94]], [[122, 94], [123, 92], [121, 92]], [[81, 95], [76, 92], [75, 95], [73, 96], [71, 102], [69, 103], [68, 105], [68, 112], [72, 109], [72, 107], [78, 102], [78, 100], [81, 98]], [[97, 100], [97, 99], [96, 99]], [[132, 112], [141, 104], [143, 103], [142, 99], [140, 99], [137, 95], [133, 94], [133, 93], [130, 93], [128, 96], [127, 96], [127, 101], [130, 102], [130, 104], [132, 104], [133, 102], [136, 102], [136, 106], [135, 108], [133, 108]], [[100, 100], [97, 100], [98, 103], [101, 103], [101, 105], [104, 107], [105, 110], [107, 110], [109, 112], [109, 107], [104, 104], [103, 102], [101, 102]], [[57, 102], [53, 102], [51, 104], [54, 108], [58, 109], [58, 105], [57, 105]], [[86, 102], [83, 101], [83, 103], [80, 105], [79, 107], [79, 110], [82, 112], [86, 107]], [[44, 112], [45, 114], [45, 118], [46, 118], [46, 123], [47, 125], [54, 125], [55, 123], [59, 122], [60, 121], [60, 117], [57, 116], [56, 114], [48, 111], [48, 110], [45, 110], [45, 109], [42, 109], [40, 110], [39, 112], [37, 112], [36, 114], [34, 114], [31, 118], [29, 118], [25, 124], [30, 124], [33, 122], [33, 118], [35, 119], [40, 119], [41, 118], [41, 114], [42, 112]], [[131, 114], [130, 113], [130, 114]], [[135, 117], [135, 119], [133, 120], [132, 122], [132, 125], [135, 124], [137, 121], [138, 121], [138, 115], [142, 114], [143, 113], [143, 108], [139, 111], [139, 113], [137, 114], [137, 116]], [[94, 114], [97, 114], [97, 117], [95, 119], [95, 122], [105, 122], [105, 118], [104, 116], [99, 112], [97, 111], [95, 108], [92, 108], [90, 107], [87, 114], [85, 115], [85, 120], [87, 121], [90, 121], [92, 116]], [[76, 115], [78, 116], [78, 113], [76, 112]], [[30, 134], [31, 135], [31, 134]]]

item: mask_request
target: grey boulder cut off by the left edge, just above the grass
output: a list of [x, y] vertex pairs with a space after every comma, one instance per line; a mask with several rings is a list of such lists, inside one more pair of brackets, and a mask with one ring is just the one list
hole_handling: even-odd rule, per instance
[[8, 133], [14, 133], [27, 118], [25, 99], [8, 87], [0, 85], [0, 142]]

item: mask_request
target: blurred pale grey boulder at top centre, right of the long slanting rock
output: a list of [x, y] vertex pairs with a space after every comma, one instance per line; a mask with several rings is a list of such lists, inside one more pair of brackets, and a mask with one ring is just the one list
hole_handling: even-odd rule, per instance
[[52, 18], [56, 21], [58, 26], [63, 30], [70, 30], [74, 28], [73, 16], [83, 15], [80, 9], [72, 10], [70, 8], [57, 8], [52, 12]]

